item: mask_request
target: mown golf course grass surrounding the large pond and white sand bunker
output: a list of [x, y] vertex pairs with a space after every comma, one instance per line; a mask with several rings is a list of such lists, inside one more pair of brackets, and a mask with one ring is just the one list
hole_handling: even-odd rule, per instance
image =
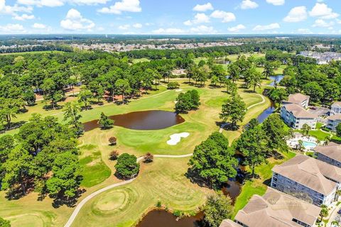
[[[86, 132], [79, 139], [80, 163], [83, 167], [84, 179], [82, 188], [86, 190], [79, 201], [92, 192], [108, 185], [120, 182], [114, 177], [116, 161], [109, 160], [109, 153], [118, 150], [119, 153], [131, 153], [141, 156], [152, 154], [183, 155], [193, 153], [195, 145], [205, 140], [212, 132], [218, 131], [221, 105], [228, 94], [224, 88], [210, 87], [196, 88], [178, 80], [183, 92], [197, 89], [200, 93], [200, 108], [189, 114], [182, 114], [185, 122], [157, 131], [135, 131], [114, 126], [109, 130], [96, 128]], [[208, 83], [207, 83], [208, 84]], [[253, 106], [247, 111], [245, 120], [240, 123], [239, 131], [224, 131], [230, 143], [238, 138], [242, 132], [242, 125], [251, 118], [261, 114], [269, 106], [269, 100], [262, 102], [261, 96], [242, 88], [238, 90], [247, 106]], [[159, 86], [157, 91], [149, 92], [139, 99], [131, 100], [129, 104], [120, 105], [105, 103], [103, 106], [93, 106], [89, 111], [82, 111], [82, 121], [91, 121], [99, 118], [101, 112], [108, 116], [124, 114], [131, 111], [144, 110], [174, 110], [174, 101], [179, 92], [167, 90]], [[66, 101], [74, 100], [68, 98]], [[261, 104], [259, 104], [261, 103]], [[61, 104], [63, 105], [63, 103]], [[63, 121], [61, 110], [42, 110], [43, 104], [28, 108], [28, 113], [18, 115], [16, 121], [27, 121], [32, 113], [41, 113], [43, 116], [52, 114]], [[10, 131], [14, 133], [16, 131]], [[188, 132], [188, 138], [183, 138], [177, 145], [168, 145], [169, 136], [173, 133]], [[117, 146], [110, 146], [108, 139], [117, 137]], [[132, 226], [148, 210], [152, 209], [157, 201], [169, 209], [186, 211], [193, 214], [205, 202], [210, 190], [190, 183], [185, 177], [188, 170], [188, 157], [185, 158], [155, 158], [153, 163], [141, 164], [139, 177], [131, 184], [109, 190], [94, 197], [85, 204], [78, 214], [73, 226]], [[52, 200], [37, 200], [37, 194], [31, 193], [21, 199], [8, 201], [4, 192], [0, 192], [0, 216], [12, 221], [12, 226], [63, 226], [70, 217], [74, 208], [62, 206], [53, 208]]]

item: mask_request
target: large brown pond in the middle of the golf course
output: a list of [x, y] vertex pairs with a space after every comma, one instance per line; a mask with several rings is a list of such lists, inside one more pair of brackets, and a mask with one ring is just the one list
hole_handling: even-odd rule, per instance
[[[118, 114], [109, 116], [114, 120], [114, 126], [136, 130], [156, 130], [175, 126], [185, 122], [180, 115], [171, 111], [137, 111], [128, 114]], [[84, 123], [84, 130], [90, 131], [99, 128], [98, 120], [88, 121]]]

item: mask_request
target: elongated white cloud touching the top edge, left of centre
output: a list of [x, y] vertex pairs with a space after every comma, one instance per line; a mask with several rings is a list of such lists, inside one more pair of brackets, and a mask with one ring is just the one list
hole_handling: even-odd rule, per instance
[[141, 12], [140, 0], [122, 0], [117, 1], [113, 6], [99, 9], [99, 13], [121, 14], [122, 12]]

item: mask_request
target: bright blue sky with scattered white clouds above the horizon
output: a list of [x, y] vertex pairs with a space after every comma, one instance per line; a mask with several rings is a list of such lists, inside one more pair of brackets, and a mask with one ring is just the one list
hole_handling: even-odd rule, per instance
[[0, 0], [0, 34], [341, 34], [341, 0]]

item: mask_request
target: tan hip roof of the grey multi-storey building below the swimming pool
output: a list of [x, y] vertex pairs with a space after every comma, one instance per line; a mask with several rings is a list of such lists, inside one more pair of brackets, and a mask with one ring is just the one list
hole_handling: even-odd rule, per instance
[[324, 195], [335, 189], [335, 182], [341, 182], [341, 168], [306, 155], [296, 155], [272, 171]]

